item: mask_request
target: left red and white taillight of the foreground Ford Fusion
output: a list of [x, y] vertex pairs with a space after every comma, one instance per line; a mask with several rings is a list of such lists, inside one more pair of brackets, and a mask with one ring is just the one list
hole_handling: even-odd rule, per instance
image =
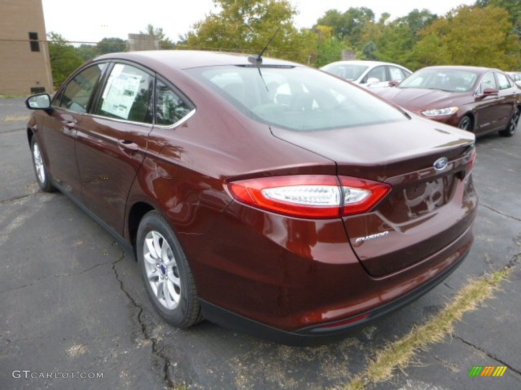
[[232, 181], [236, 200], [258, 209], [301, 218], [335, 218], [369, 211], [391, 189], [345, 176], [294, 175]]

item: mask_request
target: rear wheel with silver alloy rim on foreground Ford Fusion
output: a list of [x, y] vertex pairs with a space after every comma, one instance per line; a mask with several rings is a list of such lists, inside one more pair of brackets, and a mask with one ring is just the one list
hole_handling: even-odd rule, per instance
[[202, 319], [192, 271], [181, 245], [165, 219], [148, 212], [138, 228], [138, 262], [146, 291], [159, 314], [178, 328]]

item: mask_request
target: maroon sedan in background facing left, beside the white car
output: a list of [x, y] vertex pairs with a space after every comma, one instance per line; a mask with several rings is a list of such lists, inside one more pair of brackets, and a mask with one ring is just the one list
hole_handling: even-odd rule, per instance
[[514, 135], [521, 89], [504, 72], [476, 67], [423, 68], [395, 88], [377, 92], [406, 110], [476, 136]]

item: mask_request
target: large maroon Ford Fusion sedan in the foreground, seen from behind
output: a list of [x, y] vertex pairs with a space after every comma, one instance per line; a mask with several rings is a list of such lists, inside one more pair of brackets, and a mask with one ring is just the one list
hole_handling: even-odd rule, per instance
[[176, 327], [321, 339], [427, 292], [473, 241], [474, 135], [300, 64], [110, 54], [27, 106], [41, 188], [135, 253]]

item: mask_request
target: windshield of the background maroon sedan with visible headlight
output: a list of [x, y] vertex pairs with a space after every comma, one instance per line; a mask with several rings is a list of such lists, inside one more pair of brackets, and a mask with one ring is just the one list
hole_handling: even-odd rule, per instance
[[420, 69], [402, 81], [399, 88], [440, 89], [447, 92], [469, 92], [478, 74], [468, 70]]

